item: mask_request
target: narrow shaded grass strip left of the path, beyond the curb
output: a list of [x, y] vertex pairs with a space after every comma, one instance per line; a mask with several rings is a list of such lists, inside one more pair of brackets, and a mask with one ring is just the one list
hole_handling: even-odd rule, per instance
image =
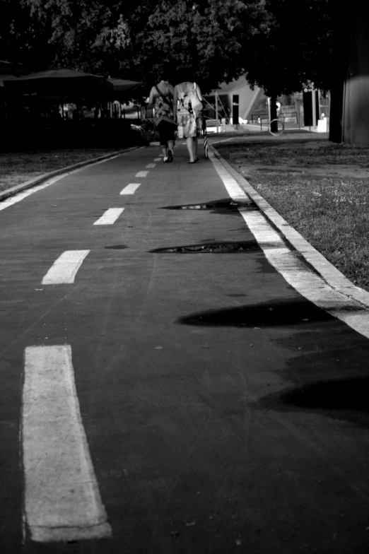
[[92, 160], [119, 148], [76, 148], [0, 153], [0, 191], [67, 165]]

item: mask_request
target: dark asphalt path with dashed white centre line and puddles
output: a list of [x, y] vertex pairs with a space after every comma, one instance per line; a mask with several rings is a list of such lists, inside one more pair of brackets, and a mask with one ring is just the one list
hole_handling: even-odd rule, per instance
[[1, 552], [367, 553], [368, 338], [157, 157], [0, 212]]

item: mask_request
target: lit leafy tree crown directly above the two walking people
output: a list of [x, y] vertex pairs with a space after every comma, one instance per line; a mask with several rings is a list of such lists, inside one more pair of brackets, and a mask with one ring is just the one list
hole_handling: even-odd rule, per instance
[[153, 66], [159, 73], [160, 66], [168, 63], [178, 80], [186, 73], [192, 75], [204, 92], [232, 81], [245, 73], [242, 46], [264, 32], [268, 15], [262, 4], [260, 0], [162, 0], [142, 33], [141, 63], [148, 61], [147, 71]]

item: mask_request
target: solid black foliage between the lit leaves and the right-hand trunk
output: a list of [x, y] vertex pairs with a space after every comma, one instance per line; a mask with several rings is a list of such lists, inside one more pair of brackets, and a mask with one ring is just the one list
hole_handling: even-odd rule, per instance
[[268, 32], [243, 52], [247, 80], [269, 96], [301, 90], [308, 82], [329, 90], [333, 0], [266, 0]]

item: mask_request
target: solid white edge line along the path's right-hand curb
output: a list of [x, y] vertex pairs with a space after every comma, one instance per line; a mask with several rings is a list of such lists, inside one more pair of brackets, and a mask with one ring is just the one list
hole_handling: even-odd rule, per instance
[[[209, 151], [209, 158], [230, 197], [234, 201], [250, 201], [250, 196], [245, 193], [211, 151]], [[286, 247], [286, 243], [262, 213], [242, 210], [242, 208], [239, 210], [247, 227], [262, 248], [266, 259], [281, 273], [287, 283], [307, 300], [369, 338], [369, 310], [365, 305], [332, 288], [327, 281], [313, 273], [305, 263], [296, 258], [294, 252]]]

